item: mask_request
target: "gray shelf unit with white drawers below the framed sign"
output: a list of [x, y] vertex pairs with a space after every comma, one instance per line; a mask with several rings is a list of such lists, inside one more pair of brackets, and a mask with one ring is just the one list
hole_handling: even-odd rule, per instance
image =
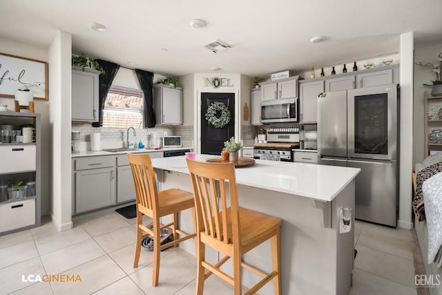
[[[0, 111], [0, 124], [12, 125], [14, 130], [21, 125], [35, 128], [33, 142], [14, 142], [15, 138], [2, 137], [0, 144], [0, 236], [41, 225], [41, 128], [40, 114]], [[12, 141], [12, 142], [10, 142]], [[20, 199], [7, 187], [18, 184]], [[28, 184], [28, 187], [25, 185]], [[34, 188], [31, 188], [31, 185]], [[20, 192], [20, 193], [19, 193]]]

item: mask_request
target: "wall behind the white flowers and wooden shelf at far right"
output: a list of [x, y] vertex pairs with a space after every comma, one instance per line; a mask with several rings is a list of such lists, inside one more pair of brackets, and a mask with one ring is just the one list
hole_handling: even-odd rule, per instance
[[[442, 50], [441, 44], [414, 48], [414, 62], [433, 61], [436, 63], [436, 54]], [[425, 158], [424, 123], [426, 115], [423, 108], [423, 92], [431, 93], [431, 87], [423, 84], [432, 84], [436, 73], [426, 66], [414, 66], [414, 102], [413, 102], [413, 164], [421, 163]]]

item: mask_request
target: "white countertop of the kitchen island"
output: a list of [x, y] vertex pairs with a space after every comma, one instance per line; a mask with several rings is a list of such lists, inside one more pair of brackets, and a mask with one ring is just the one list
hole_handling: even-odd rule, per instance
[[[199, 161], [215, 158], [197, 155]], [[321, 201], [332, 201], [361, 171], [358, 168], [325, 166], [302, 162], [255, 160], [256, 164], [236, 168], [236, 182]], [[189, 174], [184, 156], [152, 159], [157, 169]]]

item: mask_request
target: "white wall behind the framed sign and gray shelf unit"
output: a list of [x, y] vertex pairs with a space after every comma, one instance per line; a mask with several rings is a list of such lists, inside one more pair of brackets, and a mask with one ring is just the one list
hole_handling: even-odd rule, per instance
[[[48, 49], [31, 44], [0, 38], [0, 52], [19, 57], [27, 57], [41, 61], [48, 61]], [[49, 83], [50, 85], [50, 83]], [[48, 100], [35, 99], [35, 113], [41, 115], [41, 215], [48, 214], [49, 201], [49, 102]], [[14, 110], [13, 97], [1, 97], [0, 104], [7, 104], [10, 110]]]

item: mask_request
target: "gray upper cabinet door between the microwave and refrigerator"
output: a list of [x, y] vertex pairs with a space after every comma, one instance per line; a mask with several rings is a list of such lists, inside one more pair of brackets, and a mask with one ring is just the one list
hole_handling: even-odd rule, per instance
[[324, 92], [324, 81], [303, 80], [299, 85], [300, 123], [318, 121], [318, 94]]

